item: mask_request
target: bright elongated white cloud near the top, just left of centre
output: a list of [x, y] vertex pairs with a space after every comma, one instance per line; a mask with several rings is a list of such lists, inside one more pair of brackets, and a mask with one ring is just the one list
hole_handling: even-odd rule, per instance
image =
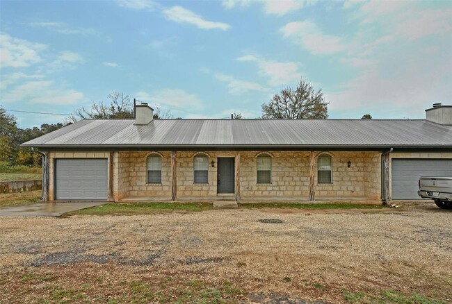
[[231, 26], [229, 24], [225, 24], [223, 22], [211, 22], [203, 19], [200, 15], [195, 14], [191, 10], [187, 10], [186, 8], [182, 8], [181, 6], [172, 6], [172, 8], [166, 8], [163, 10], [163, 15], [165, 15], [166, 19], [170, 21], [174, 21], [181, 24], [192, 24], [202, 29], [220, 29], [223, 31], [227, 31]]

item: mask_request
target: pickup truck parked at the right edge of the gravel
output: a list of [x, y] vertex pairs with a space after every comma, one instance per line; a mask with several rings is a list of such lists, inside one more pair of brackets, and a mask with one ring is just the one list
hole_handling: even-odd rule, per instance
[[439, 208], [452, 209], [452, 177], [421, 176], [417, 194], [433, 199]]

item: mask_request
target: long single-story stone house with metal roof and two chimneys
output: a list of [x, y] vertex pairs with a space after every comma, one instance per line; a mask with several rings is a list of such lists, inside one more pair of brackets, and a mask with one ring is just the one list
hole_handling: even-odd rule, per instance
[[426, 119], [82, 120], [23, 144], [46, 201], [419, 199], [452, 176], [452, 106]]

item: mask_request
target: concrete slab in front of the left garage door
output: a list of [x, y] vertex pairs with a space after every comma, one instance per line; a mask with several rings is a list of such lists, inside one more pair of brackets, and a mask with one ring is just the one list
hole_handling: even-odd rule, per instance
[[58, 202], [6, 206], [0, 208], [0, 217], [60, 217], [60, 215], [66, 212], [104, 205], [106, 203], [108, 202]]

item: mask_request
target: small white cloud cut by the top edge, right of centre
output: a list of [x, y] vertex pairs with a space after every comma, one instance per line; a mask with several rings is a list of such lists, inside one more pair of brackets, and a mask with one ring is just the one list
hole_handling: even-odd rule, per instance
[[251, 0], [223, 0], [222, 5], [227, 8], [231, 9], [234, 7], [241, 7], [245, 8], [250, 5], [250, 3], [261, 3], [264, 12], [267, 15], [286, 15], [289, 12], [294, 12], [296, 10], [300, 10], [301, 8], [304, 8], [306, 6], [312, 6], [317, 1], [316, 0], [257, 0], [257, 1], [251, 1]]

